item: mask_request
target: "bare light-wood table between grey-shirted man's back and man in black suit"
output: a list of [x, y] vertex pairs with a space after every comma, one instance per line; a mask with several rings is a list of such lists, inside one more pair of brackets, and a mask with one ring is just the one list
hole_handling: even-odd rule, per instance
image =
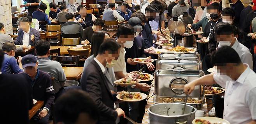
[[67, 80], [78, 80], [82, 76], [83, 67], [62, 67]]

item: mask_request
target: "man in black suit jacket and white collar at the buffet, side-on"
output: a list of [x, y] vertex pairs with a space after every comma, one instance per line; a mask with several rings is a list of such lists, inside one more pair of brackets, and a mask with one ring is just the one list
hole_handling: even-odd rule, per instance
[[86, 66], [82, 73], [82, 90], [88, 92], [95, 101], [100, 117], [97, 124], [116, 124], [117, 117], [125, 116], [120, 108], [114, 108], [116, 93], [112, 94], [108, 83], [109, 74], [107, 67], [114, 63], [113, 59], [119, 56], [120, 45], [114, 39], [106, 39], [101, 45], [96, 58]]

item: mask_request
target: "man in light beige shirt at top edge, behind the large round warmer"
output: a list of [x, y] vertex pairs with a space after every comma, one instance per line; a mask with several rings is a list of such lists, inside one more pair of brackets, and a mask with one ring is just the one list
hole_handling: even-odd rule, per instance
[[187, 9], [190, 7], [189, 4], [186, 4], [184, 0], [178, 0], [178, 4], [172, 8], [172, 16], [180, 16], [183, 12], [187, 12]]

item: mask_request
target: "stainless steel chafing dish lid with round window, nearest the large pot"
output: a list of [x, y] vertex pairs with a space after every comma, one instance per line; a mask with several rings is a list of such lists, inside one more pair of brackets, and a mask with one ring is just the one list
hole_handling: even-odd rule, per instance
[[[159, 69], [154, 73], [155, 95], [157, 97], [185, 97], [184, 85], [203, 76], [202, 70]], [[190, 98], [200, 98], [202, 86], [196, 86]]]

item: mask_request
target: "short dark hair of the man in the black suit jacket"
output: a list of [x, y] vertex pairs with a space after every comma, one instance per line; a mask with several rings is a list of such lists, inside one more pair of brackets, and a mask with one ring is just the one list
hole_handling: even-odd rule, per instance
[[100, 45], [100, 49], [98, 54], [103, 54], [105, 51], [118, 51], [118, 49], [121, 47], [121, 45], [116, 42], [113, 38], [107, 38], [105, 39], [102, 44]]

